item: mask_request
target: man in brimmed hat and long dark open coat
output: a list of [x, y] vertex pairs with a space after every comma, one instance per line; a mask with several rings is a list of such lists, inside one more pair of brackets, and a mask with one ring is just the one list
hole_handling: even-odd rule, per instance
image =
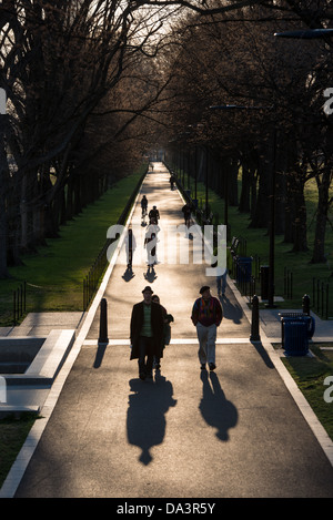
[[147, 377], [152, 378], [153, 357], [160, 355], [164, 319], [162, 307], [151, 299], [151, 287], [144, 287], [142, 294], [143, 300], [132, 308], [130, 359], [138, 359], [139, 377], [144, 380]]

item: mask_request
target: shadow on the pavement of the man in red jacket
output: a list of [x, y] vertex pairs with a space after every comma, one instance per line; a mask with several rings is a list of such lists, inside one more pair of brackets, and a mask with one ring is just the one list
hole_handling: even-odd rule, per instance
[[218, 429], [216, 437], [220, 440], [229, 440], [229, 429], [238, 424], [238, 410], [225, 398], [215, 373], [201, 371], [202, 399], [199, 409], [208, 425]]

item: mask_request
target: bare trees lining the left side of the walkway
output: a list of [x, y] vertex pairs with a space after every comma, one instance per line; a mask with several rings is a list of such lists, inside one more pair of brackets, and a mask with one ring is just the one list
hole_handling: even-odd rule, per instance
[[158, 30], [179, 9], [147, 3], [2, 1], [0, 277], [141, 160]]

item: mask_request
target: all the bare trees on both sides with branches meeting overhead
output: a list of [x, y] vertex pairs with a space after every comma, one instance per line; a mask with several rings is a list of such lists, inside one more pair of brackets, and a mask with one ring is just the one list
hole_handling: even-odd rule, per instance
[[[0, 278], [151, 144], [171, 141], [209, 150], [221, 193], [242, 165], [240, 210], [253, 226], [268, 223], [275, 165], [276, 232], [296, 251], [307, 248], [304, 185], [314, 177], [313, 261], [323, 262], [332, 43], [273, 33], [331, 20], [327, 0], [3, 0]], [[220, 103], [246, 109], [210, 109]]]

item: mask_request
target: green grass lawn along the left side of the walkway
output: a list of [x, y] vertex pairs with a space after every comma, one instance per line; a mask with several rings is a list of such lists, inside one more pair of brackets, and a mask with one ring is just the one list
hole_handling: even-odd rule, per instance
[[82, 310], [82, 282], [121, 215], [143, 170], [122, 179], [60, 230], [60, 237], [24, 255], [0, 281], [0, 326], [12, 324], [12, 292], [27, 282], [27, 312]]

